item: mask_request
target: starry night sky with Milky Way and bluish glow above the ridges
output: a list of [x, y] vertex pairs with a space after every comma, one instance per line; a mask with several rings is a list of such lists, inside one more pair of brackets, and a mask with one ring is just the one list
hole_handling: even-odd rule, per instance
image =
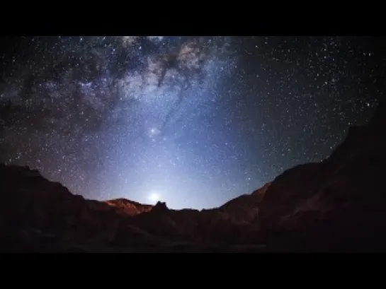
[[[3, 37], [0, 162], [211, 208], [319, 162], [385, 92], [380, 37]], [[157, 196], [157, 198], [156, 198]]]

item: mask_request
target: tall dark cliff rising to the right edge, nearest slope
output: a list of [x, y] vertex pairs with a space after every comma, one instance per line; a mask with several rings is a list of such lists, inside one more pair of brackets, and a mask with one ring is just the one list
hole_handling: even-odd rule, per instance
[[274, 248], [385, 250], [386, 107], [356, 126], [327, 160], [276, 177], [259, 205]]

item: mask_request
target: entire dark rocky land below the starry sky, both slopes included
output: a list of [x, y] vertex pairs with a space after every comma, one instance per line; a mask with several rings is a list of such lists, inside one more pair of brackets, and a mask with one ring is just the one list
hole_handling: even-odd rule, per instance
[[386, 251], [386, 106], [321, 163], [209, 210], [92, 201], [0, 165], [1, 251]]

